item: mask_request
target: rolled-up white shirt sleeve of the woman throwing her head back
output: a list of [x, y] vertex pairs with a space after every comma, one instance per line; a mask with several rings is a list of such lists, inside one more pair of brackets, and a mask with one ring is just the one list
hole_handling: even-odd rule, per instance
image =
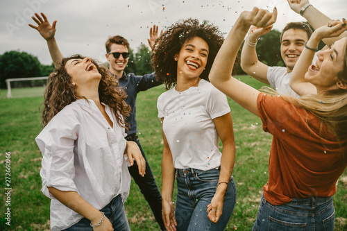
[[42, 152], [42, 193], [54, 198], [48, 187], [60, 191], [77, 191], [74, 183], [74, 145], [78, 137], [78, 121], [74, 118], [53, 118], [36, 137]]

